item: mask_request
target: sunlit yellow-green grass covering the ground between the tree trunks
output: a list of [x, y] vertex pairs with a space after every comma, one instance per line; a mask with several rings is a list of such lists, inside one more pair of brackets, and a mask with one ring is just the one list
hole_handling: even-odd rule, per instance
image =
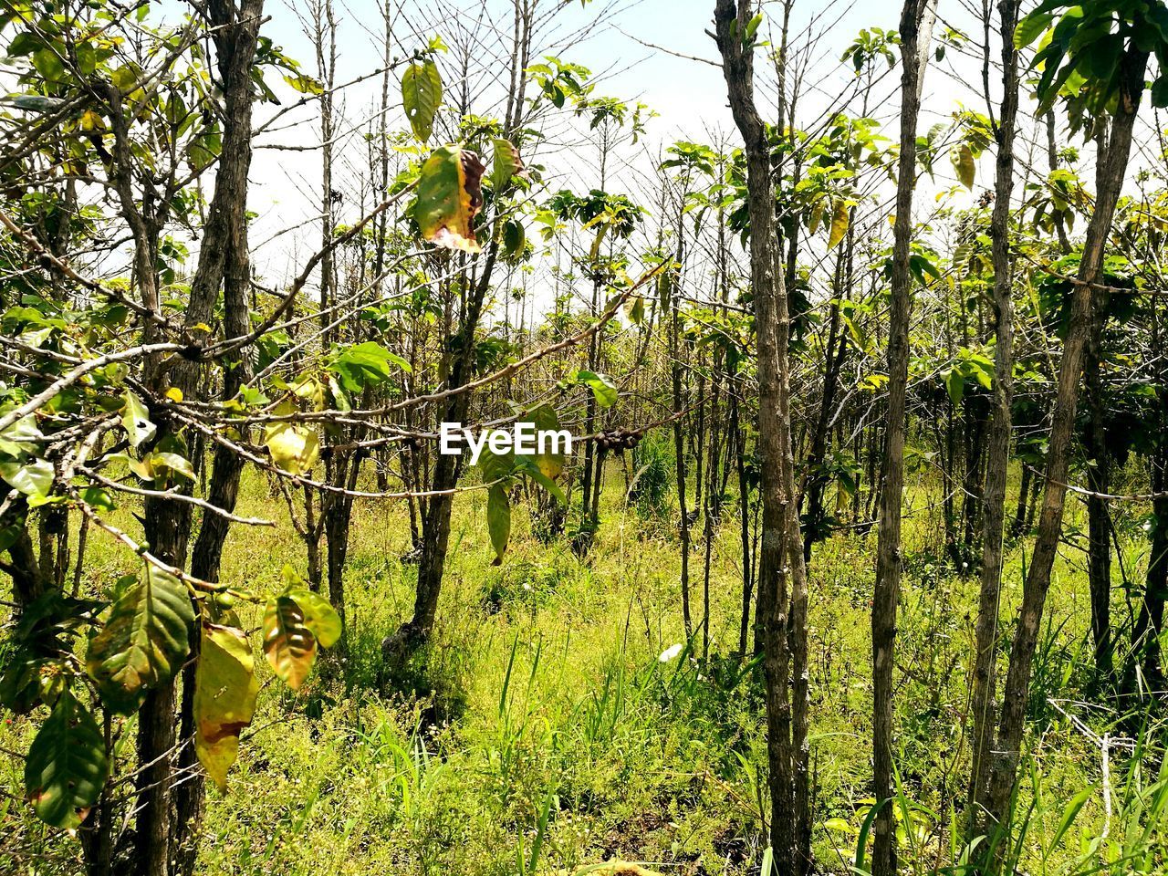
[[[976, 580], [953, 575], [940, 559], [939, 510], [926, 501], [937, 491], [926, 487], [915, 485], [906, 521], [897, 646], [897, 765], [909, 813], [902, 861], [913, 872], [960, 856], [951, 827], [968, 770], [967, 659], [976, 606]], [[535, 538], [517, 506], [501, 566], [491, 564], [485, 494], [460, 496], [438, 627], [405, 680], [410, 696], [385, 694], [377, 682], [380, 642], [412, 607], [415, 568], [401, 559], [409, 548], [405, 506], [359, 505], [346, 584], [347, 656], [322, 659], [297, 694], [271, 683], [270, 667], [257, 659], [259, 710], [229, 794], [209, 791], [200, 871], [485, 876], [572, 870], [611, 857], [670, 874], [757, 868], [762, 701], [751, 673], [728, 658], [741, 611], [737, 516], [725, 515], [711, 552], [710, 659], [703, 663], [701, 632], [693, 653], [677, 653], [686, 637], [676, 514], [625, 507], [623, 493], [617, 470], [584, 559], [566, 538]], [[272, 517], [283, 502], [250, 477], [239, 510]], [[1071, 510], [1073, 529], [1080, 510]], [[285, 523], [235, 527], [223, 579], [276, 590], [285, 563], [303, 571], [303, 544]], [[1142, 563], [1135, 535], [1131, 556]], [[100, 537], [90, 544], [92, 584], [107, 586], [130, 571], [125, 551]], [[704, 550], [697, 533], [695, 625]], [[850, 871], [870, 802], [874, 551], [874, 533], [853, 531], [818, 545], [811, 565], [814, 846], [827, 872]], [[1101, 786], [1098, 744], [1059, 711], [1087, 724], [1097, 717], [1075, 703], [1091, 682], [1090, 610], [1080, 555], [1064, 555], [1036, 661], [1037, 723], [1022, 770], [1029, 816], [1020, 869], [1029, 872], [1086, 871], [1076, 863], [1084, 842], [1139, 829], [1124, 794], [1133, 781], [1154, 779], [1128, 776], [1118, 750], [1113, 785]], [[1011, 547], [1003, 628], [1021, 591], [1022, 561]], [[258, 625], [256, 611], [242, 613]], [[258, 634], [252, 639], [258, 655]], [[1051, 702], [1048, 690], [1062, 700]], [[6, 722], [0, 749], [22, 751], [29, 736], [25, 721]], [[120, 744], [131, 753], [132, 732]], [[19, 760], [7, 753], [0, 785], [7, 791], [0, 833], [20, 850], [7, 863], [0, 855], [0, 871], [39, 853], [36, 872], [74, 871], [63, 855], [76, 849], [15, 799]], [[1113, 798], [1106, 826], [1105, 797]], [[1061, 830], [1076, 804], [1082, 811]], [[26, 867], [15, 869], [33, 871]]]

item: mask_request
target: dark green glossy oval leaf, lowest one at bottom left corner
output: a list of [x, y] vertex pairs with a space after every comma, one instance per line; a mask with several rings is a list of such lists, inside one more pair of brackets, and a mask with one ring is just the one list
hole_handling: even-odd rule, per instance
[[78, 827], [100, 797], [107, 770], [102, 729], [64, 691], [25, 760], [25, 788], [37, 818], [53, 827]]

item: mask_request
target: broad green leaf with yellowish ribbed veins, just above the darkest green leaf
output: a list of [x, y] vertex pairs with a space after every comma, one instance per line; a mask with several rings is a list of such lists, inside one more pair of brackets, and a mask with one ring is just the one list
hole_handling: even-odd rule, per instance
[[128, 715], [146, 691], [174, 677], [190, 651], [195, 620], [187, 588], [169, 572], [147, 564], [144, 576], [110, 606], [93, 637], [85, 672], [112, 711]]

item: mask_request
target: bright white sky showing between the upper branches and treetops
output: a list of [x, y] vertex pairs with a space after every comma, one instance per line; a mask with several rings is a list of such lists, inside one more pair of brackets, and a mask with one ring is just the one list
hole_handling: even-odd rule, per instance
[[[339, 70], [338, 81], [343, 82], [354, 76], [368, 72], [381, 64], [380, 40], [381, 15], [375, 0], [335, 0], [339, 29]], [[946, 15], [947, 6], [953, 4], [943, 0], [941, 16]], [[409, 4], [406, 5], [409, 7]], [[479, 6], [473, 0], [454, 0], [445, 7], [432, 7], [419, 4], [422, 12], [409, 8], [395, 23], [397, 37], [396, 54], [408, 54], [422, 47], [431, 33], [439, 33], [446, 42], [452, 43], [458, 29], [458, 19], [470, 26], [479, 14]], [[427, 11], [426, 7], [430, 7]], [[413, 25], [419, 32], [418, 37], [409, 36], [411, 22], [418, 15], [432, 13], [443, 8], [444, 18], [430, 25]], [[463, 12], [459, 12], [459, 9]], [[506, 28], [509, 35], [510, 4], [507, 0], [488, 0], [488, 14], [495, 19], [500, 28]], [[767, 4], [769, 16], [781, 15], [781, 5]], [[953, 11], [950, 11], [953, 12]], [[281, 46], [286, 54], [301, 61], [306, 72], [315, 71], [312, 44], [304, 35], [300, 21], [290, 7], [277, 0], [269, 0], [267, 22], [263, 33]], [[550, 34], [550, 46], [543, 47], [564, 61], [584, 64], [593, 71], [600, 82], [596, 93], [618, 97], [628, 102], [640, 100], [647, 104], [658, 117], [648, 123], [648, 134], [641, 144], [633, 148], [627, 146], [623, 162], [610, 168], [606, 188], [612, 192], [627, 192], [635, 196], [637, 182], [633, 179], [644, 174], [653, 164], [655, 155], [665, 145], [689, 139], [710, 141], [721, 135], [737, 142], [729, 110], [726, 109], [725, 84], [722, 72], [716, 67], [682, 57], [667, 51], [648, 48], [638, 40], [653, 43], [669, 51], [714, 60], [717, 56], [712, 39], [705, 33], [711, 27], [712, 0], [632, 0], [606, 5], [603, 0], [582, 6], [573, 0], [566, 2], [557, 19], [558, 26]], [[858, 0], [847, 4], [836, 0], [797, 0], [793, 15], [793, 40], [802, 43], [809, 32], [821, 34], [815, 51], [811, 55], [811, 70], [804, 83], [800, 124], [809, 125], [823, 111], [830, 99], [841, 93], [853, 82], [851, 68], [840, 62], [844, 48], [855, 39], [863, 27], [883, 27], [896, 29], [899, 16], [899, 5], [895, 0], [875, 2]], [[598, 23], [599, 22], [599, 23]], [[967, 21], [953, 22], [968, 29]], [[589, 25], [593, 32], [588, 39], [568, 42], [568, 37]], [[778, 28], [778, 21], [763, 26]], [[941, 25], [938, 26], [943, 27]], [[980, 34], [971, 34], [975, 37]], [[633, 39], [635, 37], [635, 39]], [[777, 39], [777, 35], [776, 35]], [[565, 44], [568, 43], [568, 44]], [[996, 48], [995, 48], [996, 51]], [[954, 62], [967, 67], [964, 76], [954, 76], [951, 70]], [[766, 61], [762, 53], [757, 64], [760, 74], [766, 74]], [[964, 79], [976, 76], [978, 68], [968, 60], [954, 58], [952, 53], [943, 64], [936, 65], [926, 81], [925, 112], [922, 117], [922, 131], [927, 130], [938, 118], [947, 116], [957, 107], [957, 100], [976, 100], [967, 91]], [[502, 67], [496, 65], [501, 77]], [[489, 78], [489, 69], [480, 71], [479, 78]], [[272, 77], [269, 77], [270, 79]], [[395, 79], [396, 79], [395, 75]], [[996, 78], [996, 77], [992, 77]], [[506, 84], [506, 83], [503, 83]], [[350, 125], [360, 125], [368, 118], [374, 102], [380, 96], [380, 79], [364, 83], [347, 90], [343, 112]], [[450, 88], [450, 83], [447, 83]], [[872, 114], [878, 116], [889, 127], [887, 134], [895, 139], [896, 105], [898, 72], [884, 77], [876, 86], [876, 104]], [[298, 96], [287, 89], [277, 89], [281, 98], [294, 100]], [[396, 81], [391, 83], [391, 100], [397, 91]], [[530, 95], [530, 90], [528, 92]], [[760, 103], [764, 112], [770, 105], [773, 118], [773, 89], [760, 86]], [[976, 105], [976, 109], [981, 109]], [[264, 118], [271, 110], [260, 107], [257, 118]], [[319, 123], [313, 109], [306, 109], [298, 118], [303, 124], [298, 127], [283, 130], [278, 135], [264, 138], [262, 142], [307, 146], [318, 144]], [[401, 116], [395, 114], [395, 124], [404, 125]], [[578, 137], [586, 137], [586, 126], [578, 128]], [[434, 140], [440, 134], [436, 132]], [[570, 139], [570, 138], [563, 138]], [[350, 139], [341, 151], [341, 161], [334, 174], [338, 188], [346, 180], [355, 178], [357, 169], [350, 162], [361, 161], [362, 147], [357, 137]], [[548, 167], [549, 178], [556, 176], [550, 190], [569, 187], [586, 190], [597, 185], [596, 150], [580, 147], [580, 154], [537, 157]], [[556, 160], [556, 159], [561, 160]], [[627, 162], [627, 164], [626, 164]], [[251, 174], [251, 207], [260, 220], [256, 223], [252, 235], [256, 246], [255, 263], [258, 271], [271, 281], [279, 281], [293, 276], [296, 263], [311, 251], [312, 242], [318, 239], [319, 231], [314, 228], [301, 232], [284, 234], [263, 245], [277, 231], [290, 225], [307, 221], [319, 211], [320, 157], [314, 151], [274, 151], [259, 148], [256, 152]], [[979, 180], [979, 182], [981, 182]], [[355, 194], [347, 193], [342, 221], [355, 218], [357, 206]]]

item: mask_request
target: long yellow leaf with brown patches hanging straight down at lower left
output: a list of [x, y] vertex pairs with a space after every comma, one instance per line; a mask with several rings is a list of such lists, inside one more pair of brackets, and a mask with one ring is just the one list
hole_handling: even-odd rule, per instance
[[239, 734], [256, 714], [251, 646], [242, 630], [203, 624], [195, 668], [195, 753], [221, 792], [239, 753]]

